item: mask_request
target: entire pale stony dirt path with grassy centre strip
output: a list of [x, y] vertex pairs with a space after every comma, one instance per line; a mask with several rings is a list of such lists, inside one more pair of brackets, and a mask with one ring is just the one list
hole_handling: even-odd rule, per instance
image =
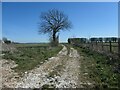
[[[80, 56], [74, 48], [70, 48], [70, 53], [65, 46], [56, 57], [49, 58], [44, 64], [35, 69], [25, 72], [22, 78], [17, 78], [14, 72], [3, 77], [3, 86], [13, 88], [40, 88], [40, 87], [56, 87], [56, 88], [78, 88], [80, 85]], [[3, 66], [3, 70], [4, 70]], [[11, 70], [11, 67], [9, 67]], [[10, 71], [11, 72], [11, 71]], [[3, 72], [7, 73], [7, 72]], [[5, 79], [5, 77], [7, 77]], [[8, 81], [7, 81], [8, 80]]]

